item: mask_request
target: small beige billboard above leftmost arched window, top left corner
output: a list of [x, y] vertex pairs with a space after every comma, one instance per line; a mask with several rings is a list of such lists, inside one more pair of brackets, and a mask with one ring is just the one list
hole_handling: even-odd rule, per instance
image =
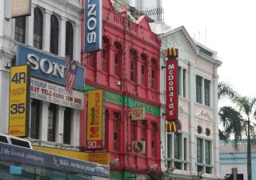
[[12, 0], [11, 18], [30, 16], [31, 0]]

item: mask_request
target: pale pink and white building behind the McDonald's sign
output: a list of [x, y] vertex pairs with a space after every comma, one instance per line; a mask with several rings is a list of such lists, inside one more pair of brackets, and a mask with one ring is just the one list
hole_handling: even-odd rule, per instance
[[[166, 49], [178, 49], [178, 133], [166, 133], [161, 118], [162, 171], [166, 179], [219, 178], [218, 67], [217, 52], [194, 40], [184, 26], [166, 28], [164, 22], [150, 24], [162, 40], [161, 66]], [[162, 109], [166, 113], [166, 70], [160, 73]], [[168, 172], [168, 168], [175, 170]]]

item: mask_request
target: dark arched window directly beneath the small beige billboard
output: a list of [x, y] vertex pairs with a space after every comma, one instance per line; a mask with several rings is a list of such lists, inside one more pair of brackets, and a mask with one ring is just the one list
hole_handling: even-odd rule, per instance
[[20, 17], [15, 19], [15, 40], [25, 43], [26, 33], [26, 17]]

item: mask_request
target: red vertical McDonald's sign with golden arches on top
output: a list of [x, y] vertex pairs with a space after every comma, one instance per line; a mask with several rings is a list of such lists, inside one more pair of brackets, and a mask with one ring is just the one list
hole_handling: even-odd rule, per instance
[[166, 120], [178, 120], [178, 50], [166, 50]]

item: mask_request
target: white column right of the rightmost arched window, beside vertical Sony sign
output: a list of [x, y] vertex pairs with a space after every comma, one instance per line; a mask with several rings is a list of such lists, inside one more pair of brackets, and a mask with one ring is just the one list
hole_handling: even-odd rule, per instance
[[74, 23], [74, 60], [81, 62], [81, 25]]

